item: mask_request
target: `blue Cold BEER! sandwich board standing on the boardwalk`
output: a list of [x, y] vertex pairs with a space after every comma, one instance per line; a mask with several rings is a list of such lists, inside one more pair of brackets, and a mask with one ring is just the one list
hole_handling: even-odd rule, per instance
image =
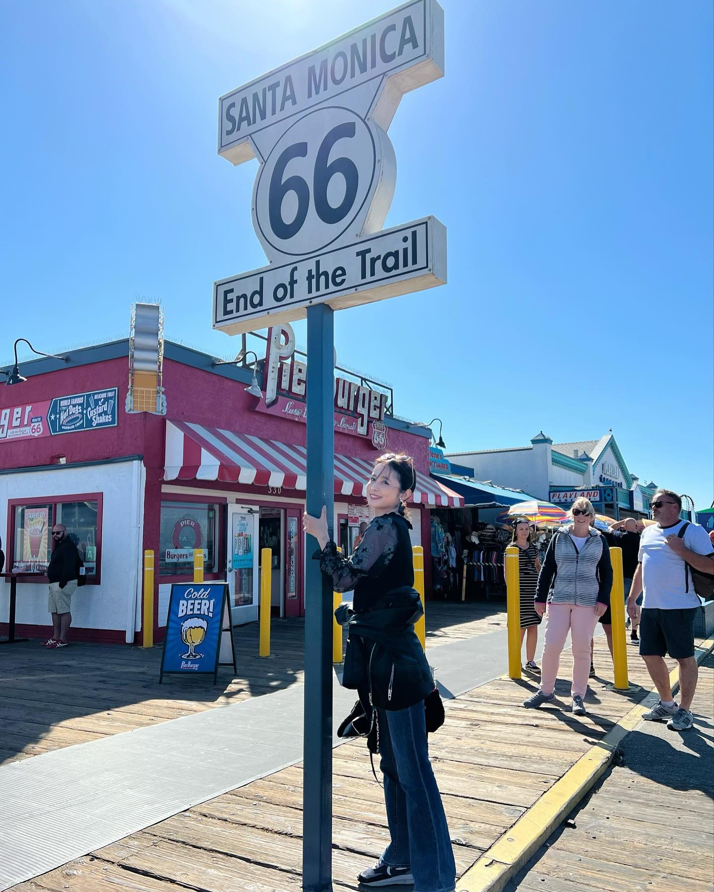
[[224, 632], [230, 637], [230, 662], [235, 665], [230, 628], [228, 586], [225, 582], [171, 585], [159, 681], [167, 673], [211, 673], [215, 681], [221, 656], [221, 634]]

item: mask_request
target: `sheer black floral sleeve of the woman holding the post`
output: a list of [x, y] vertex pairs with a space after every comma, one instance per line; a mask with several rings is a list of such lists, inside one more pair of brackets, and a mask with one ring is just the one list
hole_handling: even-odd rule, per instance
[[333, 541], [316, 551], [313, 557], [320, 558], [320, 570], [332, 576], [335, 591], [350, 591], [359, 580], [378, 576], [384, 571], [394, 557], [396, 542], [394, 517], [386, 515], [372, 520], [349, 558], [337, 551]]

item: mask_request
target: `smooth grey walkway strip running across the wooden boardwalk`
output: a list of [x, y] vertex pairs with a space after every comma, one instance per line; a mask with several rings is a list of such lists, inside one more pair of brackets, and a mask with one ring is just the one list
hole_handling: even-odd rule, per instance
[[[444, 698], [492, 680], [506, 634], [430, 648]], [[353, 691], [334, 685], [336, 724]], [[303, 686], [0, 767], [0, 890], [303, 757]]]

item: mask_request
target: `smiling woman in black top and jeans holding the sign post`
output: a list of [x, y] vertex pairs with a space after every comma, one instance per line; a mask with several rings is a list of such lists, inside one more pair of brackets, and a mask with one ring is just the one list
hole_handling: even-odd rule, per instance
[[453, 892], [456, 867], [444, 806], [428, 756], [427, 732], [444, 721], [427, 658], [414, 632], [423, 613], [404, 507], [416, 486], [411, 458], [378, 458], [367, 483], [373, 518], [350, 557], [329, 539], [326, 511], [303, 516], [320, 544], [315, 558], [335, 591], [354, 591], [337, 608], [349, 628], [343, 686], [359, 701], [338, 731], [367, 735], [381, 756], [390, 842], [358, 877], [367, 887], [414, 884], [415, 892]]

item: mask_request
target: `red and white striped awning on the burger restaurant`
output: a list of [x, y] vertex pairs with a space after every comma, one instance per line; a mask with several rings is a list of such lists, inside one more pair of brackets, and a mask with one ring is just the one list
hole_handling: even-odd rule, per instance
[[[186, 421], [166, 422], [166, 459], [163, 479], [220, 480], [304, 490], [306, 450], [252, 434], [234, 434], [219, 427]], [[373, 464], [366, 458], [335, 456], [335, 492], [364, 496]], [[460, 508], [460, 495], [431, 477], [417, 475], [412, 502], [417, 505]]]

